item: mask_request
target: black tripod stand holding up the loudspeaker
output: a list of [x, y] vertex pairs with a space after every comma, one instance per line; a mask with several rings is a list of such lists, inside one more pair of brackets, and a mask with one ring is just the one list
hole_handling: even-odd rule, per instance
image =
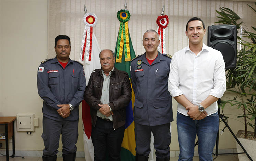
[[[218, 104], [221, 104], [221, 100], [219, 98], [218, 100]], [[232, 129], [229, 127], [228, 123], [225, 121], [225, 116], [220, 114], [220, 108], [218, 108], [218, 114], [219, 114], [219, 122], [220, 122], [220, 119], [224, 122], [224, 124], [226, 125], [226, 127], [228, 127], [230, 133], [233, 135], [233, 137], [235, 138], [235, 140], [237, 141], [237, 143], [240, 145], [240, 147], [243, 149], [244, 152], [241, 152], [241, 153], [221, 153], [219, 154], [218, 153], [218, 150], [219, 150], [219, 130], [218, 130], [218, 133], [217, 133], [217, 137], [216, 137], [216, 149], [215, 149], [215, 154], [213, 153], [214, 156], [216, 156], [214, 159], [216, 159], [219, 155], [231, 155], [231, 154], [246, 154], [247, 157], [249, 158], [250, 161], [253, 161], [253, 159], [249, 156], [249, 154], [247, 153], [247, 151], [244, 149], [243, 145], [240, 143], [240, 141], [237, 139], [237, 137], [235, 136], [235, 134], [233, 133]], [[220, 124], [219, 124], [220, 126]], [[220, 128], [220, 127], [219, 127]], [[198, 140], [197, 142], [195, 143], [195, 146], [198, 145]], [[213, 159], [213, 160], [214, 160]]]

